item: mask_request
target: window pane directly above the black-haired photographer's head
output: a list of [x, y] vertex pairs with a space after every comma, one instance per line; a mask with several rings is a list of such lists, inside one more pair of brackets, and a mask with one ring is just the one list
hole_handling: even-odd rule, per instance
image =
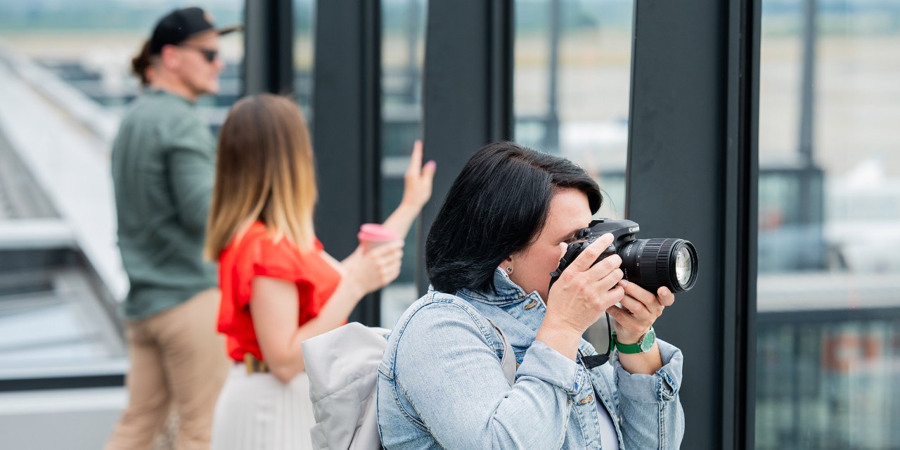
[[625, 214], [633, 0], [517, 0], [515, 139], [584, 167]]

